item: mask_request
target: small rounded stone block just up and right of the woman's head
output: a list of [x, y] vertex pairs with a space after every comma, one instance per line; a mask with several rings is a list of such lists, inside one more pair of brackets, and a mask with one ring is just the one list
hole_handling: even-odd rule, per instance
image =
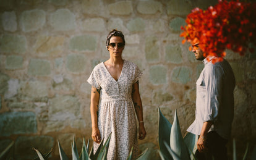
[[145, 30], [145, 22], [142, 18], [135, 18], [127, 23], [127, 29], [130, 32], [143, 32]]

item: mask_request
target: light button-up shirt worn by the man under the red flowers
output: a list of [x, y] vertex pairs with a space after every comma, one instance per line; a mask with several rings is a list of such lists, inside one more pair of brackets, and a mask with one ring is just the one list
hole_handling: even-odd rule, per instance
[[[211, 57], [211, 60], [213, 58]], [[187, 132], [200, 135], [203, 122], [212, 121], [209, 132], [215, 130], [221, 137], [228, 139], [234, 117], [234, 73], [224, 59], [213, 64], [205, 58], [203, 63], [205, 67], [196, 83], [195, 121]]]

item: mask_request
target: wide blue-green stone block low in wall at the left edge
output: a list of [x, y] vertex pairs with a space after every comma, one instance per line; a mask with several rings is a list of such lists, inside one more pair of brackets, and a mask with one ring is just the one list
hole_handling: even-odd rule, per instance
[[37, 132], [33, 112], [4, 112], [0, 114], [0, 135], [29, 134]]

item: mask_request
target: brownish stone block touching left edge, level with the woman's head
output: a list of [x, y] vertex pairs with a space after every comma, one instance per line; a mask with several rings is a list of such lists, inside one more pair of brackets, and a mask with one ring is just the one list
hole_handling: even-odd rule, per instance
[[2, 35], [0, 53], [25, 53], [27, 41], [23, 35]]

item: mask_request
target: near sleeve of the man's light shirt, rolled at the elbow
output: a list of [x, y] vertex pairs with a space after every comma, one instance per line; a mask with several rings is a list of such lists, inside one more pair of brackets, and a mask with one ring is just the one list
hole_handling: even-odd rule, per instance
[[208, 65], [205, 70], [205, 114], [203, 122], [215, 122], [221, 105], [223, 74], [221, 67]]

